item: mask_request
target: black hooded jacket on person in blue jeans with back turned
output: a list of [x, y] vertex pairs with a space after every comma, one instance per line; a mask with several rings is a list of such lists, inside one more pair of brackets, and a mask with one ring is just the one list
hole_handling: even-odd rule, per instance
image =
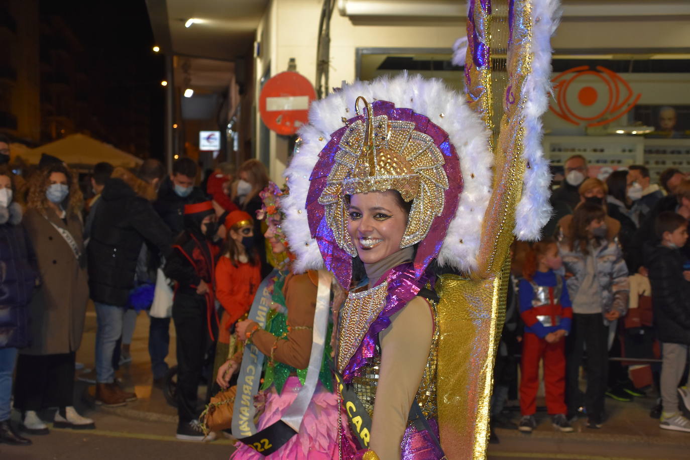
[[106, 181], [95, 212], [88, 243], [91, 299], [128, 306], [141, 246], [146, 242], [166, 256], [172, 234], [151, 203], [121, 179]]

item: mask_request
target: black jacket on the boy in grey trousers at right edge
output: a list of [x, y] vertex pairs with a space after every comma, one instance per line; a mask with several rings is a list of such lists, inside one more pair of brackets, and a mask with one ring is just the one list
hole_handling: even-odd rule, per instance
[[686, 257], [660, 244], [647, 246], [645, 259], [658, 339], [690, 345], [690, 283], [683, 277]]

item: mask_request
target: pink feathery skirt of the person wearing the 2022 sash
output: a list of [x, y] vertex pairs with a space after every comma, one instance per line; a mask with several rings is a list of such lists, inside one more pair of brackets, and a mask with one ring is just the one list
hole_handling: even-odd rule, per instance
[[[283, 413], [297, 398], [302, 388], [297, 377], [288, 377], [282, 394], [275, 391], [275, 387], [266, 390], [266, 406], [259, 417], [258, 430], [272, 425], [280, 420]], [[314, 396], [309, 403], [299, 432], [286, 442], [277, 452], [266, 457], [242, 442], [238, 442], [237, 450], [230, 455], [235, 460], [331, 460], [338, 455], [338, 397], [337, 393], [329, 392], [319, 382]]]

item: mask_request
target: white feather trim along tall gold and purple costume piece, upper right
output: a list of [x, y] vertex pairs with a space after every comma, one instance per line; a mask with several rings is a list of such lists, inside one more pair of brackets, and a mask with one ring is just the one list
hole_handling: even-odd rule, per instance
[[525, 170], [522, 198], [515, 210], [513, 234], [522, 241], [540, 239], [551, 218], [549, 160], [542, 150], [542, 114], [549, 107], [551, 90], [551, 35], [560, 20], [559, 0], [532, 1], [532, 63], [524, 81], [524, 151], [529, 164]]

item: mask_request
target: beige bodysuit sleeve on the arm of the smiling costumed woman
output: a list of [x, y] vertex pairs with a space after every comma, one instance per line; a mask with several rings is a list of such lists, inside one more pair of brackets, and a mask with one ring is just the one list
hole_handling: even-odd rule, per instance
[[391, 326], [379, 334], [381, 368], [369, 443], [381, 460], [400, 460], [400, 443], [433, 336], [431, 308], [422, 297], [391, 319]]

